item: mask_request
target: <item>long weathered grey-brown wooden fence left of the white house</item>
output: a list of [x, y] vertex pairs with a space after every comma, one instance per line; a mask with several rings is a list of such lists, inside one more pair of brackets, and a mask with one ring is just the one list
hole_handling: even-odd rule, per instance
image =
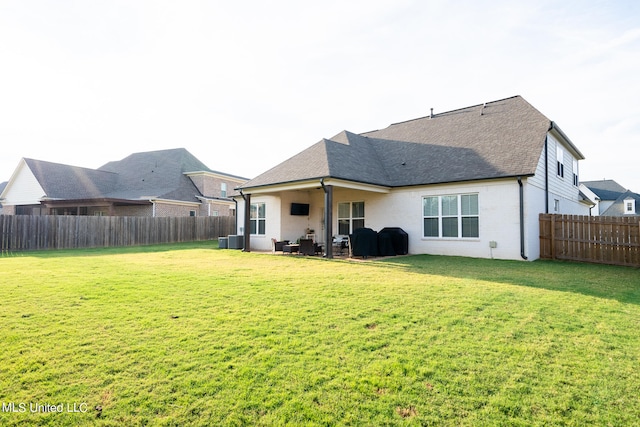
[[235, 218], [0, 215], [0, 250], [76, 249], [217, 239]]

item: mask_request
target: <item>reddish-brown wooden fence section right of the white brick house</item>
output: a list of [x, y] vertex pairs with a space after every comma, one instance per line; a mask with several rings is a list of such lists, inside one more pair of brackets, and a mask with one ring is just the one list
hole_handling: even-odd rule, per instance
[[640, 218], [540, 214], [540, 257], [640, 267]]

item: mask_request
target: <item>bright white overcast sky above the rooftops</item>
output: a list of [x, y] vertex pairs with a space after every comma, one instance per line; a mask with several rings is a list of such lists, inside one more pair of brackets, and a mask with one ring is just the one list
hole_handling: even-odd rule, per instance
[[0, 181], [185, 147], [252, 178], [342, 130], [522, 95], [640, 192], [640, 2], [0, 0]]

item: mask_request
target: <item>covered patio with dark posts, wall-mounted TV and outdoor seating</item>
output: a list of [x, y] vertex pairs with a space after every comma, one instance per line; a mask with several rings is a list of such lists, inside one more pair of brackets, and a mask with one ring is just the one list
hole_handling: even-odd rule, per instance
[[[348, 235], [366, 226], [365, 206], [389, 191], [388, 187], [335, 178], [242, 188], [237, 200], [244, 204], [239, 209], [244, 213], [239, 222], [244, 250], [271, 250], [273, 239], [294, 245], [311, 240], [314, 254], [321, 246], [327, 258], [344, 256]], [[301, 251], [284, 246], [284, 254]]]

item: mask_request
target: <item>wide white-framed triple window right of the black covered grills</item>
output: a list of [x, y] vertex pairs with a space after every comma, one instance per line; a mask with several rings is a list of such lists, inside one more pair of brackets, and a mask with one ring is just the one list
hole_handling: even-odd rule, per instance
[[424, 237], [480, 237], [478, 194], [453, 194], [422, 198]]

